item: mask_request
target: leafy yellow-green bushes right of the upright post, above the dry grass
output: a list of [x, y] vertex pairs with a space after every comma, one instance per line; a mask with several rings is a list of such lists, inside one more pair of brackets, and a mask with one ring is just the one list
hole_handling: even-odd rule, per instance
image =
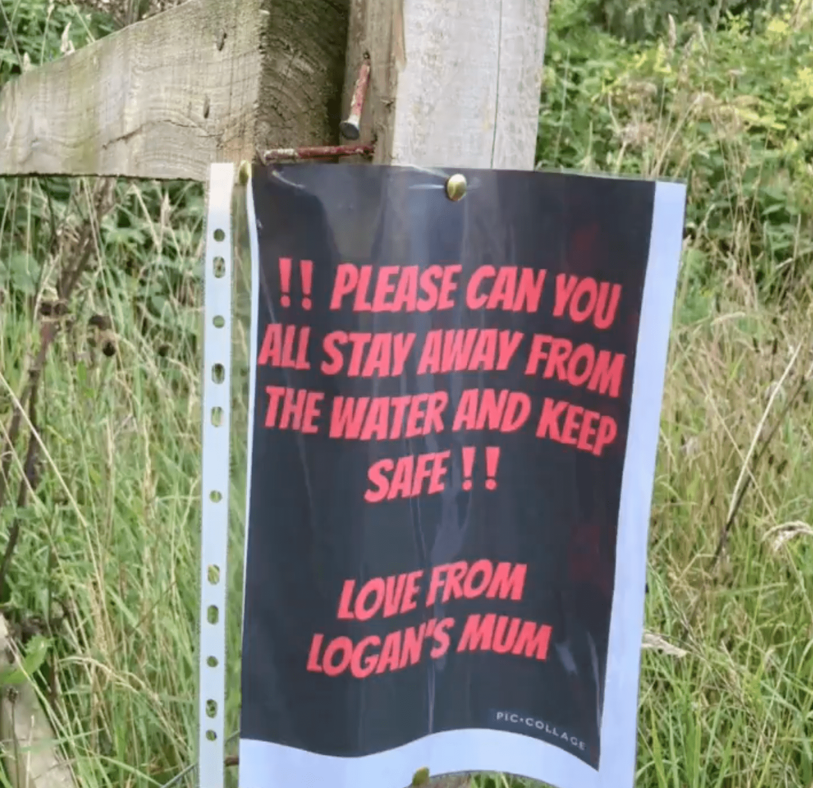
[[811, 285], [813, 24], [789, 13], [625, 45], [554, 6], [537, 159], [545, 168], [685, 179], [693, 284], [715, 272], [766, 298]]

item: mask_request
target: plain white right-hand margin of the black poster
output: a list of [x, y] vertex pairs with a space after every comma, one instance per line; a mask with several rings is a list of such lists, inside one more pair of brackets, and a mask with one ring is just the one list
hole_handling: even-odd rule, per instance
[[667, 181], [655, 184], [650, 257], [638, 321], [633, 402], [615, 542], [615, 590], [599, 762], [601, 788], [635, 785], [646, 552], [685, 205], [684, 184]]

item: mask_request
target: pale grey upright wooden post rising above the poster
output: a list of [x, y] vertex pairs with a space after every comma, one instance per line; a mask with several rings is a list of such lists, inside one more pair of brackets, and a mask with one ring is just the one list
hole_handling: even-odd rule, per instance
[[548, 5], [352, 0], [345, 102], [367, 51], [376, 161], [533, 168]]

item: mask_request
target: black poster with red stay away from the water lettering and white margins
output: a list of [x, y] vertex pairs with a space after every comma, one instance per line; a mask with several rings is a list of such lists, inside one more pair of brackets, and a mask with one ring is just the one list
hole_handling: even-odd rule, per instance
[[249, 192], [241, 786], [631, 788], [685, 186], [291, 164]]

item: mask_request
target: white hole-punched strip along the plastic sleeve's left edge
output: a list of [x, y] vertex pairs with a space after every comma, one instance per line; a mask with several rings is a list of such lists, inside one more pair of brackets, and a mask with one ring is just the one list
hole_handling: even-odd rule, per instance
[[[233, 164], [209, 171], [203, 306], [198, 786], [224, 786], [226, 560], [232, 372]], [[222, 234], [221, 234], [222, 233]]]

